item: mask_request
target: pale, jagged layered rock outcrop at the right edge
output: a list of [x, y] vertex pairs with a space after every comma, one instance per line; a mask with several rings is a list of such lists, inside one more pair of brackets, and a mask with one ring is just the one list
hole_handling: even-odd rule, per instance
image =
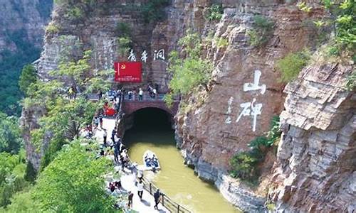
[[270, 197], [279, 211], [355, 212], [355, 66], [314, 65], [288, 84]]

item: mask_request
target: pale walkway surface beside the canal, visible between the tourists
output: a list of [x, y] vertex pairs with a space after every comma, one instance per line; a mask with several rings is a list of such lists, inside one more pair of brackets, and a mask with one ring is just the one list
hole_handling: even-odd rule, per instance
[[[104, 118], [103, 119], [103, 128], [108, 132], [108, 141], [111, 139], [112, 129], [115, 127], [115, 119]], [[95, 132], [94, 138], [101, 144], [103, 144], [103, 133], [102, 129], [98, 129]], [[113, 156], [110, 155], [108, 158], [113, 160]], [[115, 167], [115, 169], [119, 169], [119, 167]], [[120, 170], [120, 169], [119, 169]], [[122, 194], [127, 194], [127, 192], [131, 191], [134, 193], [134, 197], [132, 200], [132, 210], [137, 212], [169, 212], [165, 207], [162, 207], [161, 204], [158, 204], [159, 210], [154, 209], [155, 199], [149, 192], [144, 190], [142, 201], [140, 201], [140, 197], [137, 195], [137, 187], [135, 186], [135, 174], [131, 174], [129, 170], [125, 170], [125, 172], [120, 172], [120, 180], [122, 183], [122, 187], [124, 188]]]

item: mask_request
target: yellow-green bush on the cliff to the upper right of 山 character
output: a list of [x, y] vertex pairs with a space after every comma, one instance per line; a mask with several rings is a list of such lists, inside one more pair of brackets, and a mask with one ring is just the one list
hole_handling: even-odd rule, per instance
[[299, 72], [308, 65], [310, 52], [303, 50], [298, 53], [289, 53], [276, 63], [276, 67], [281, 72], [281, 82], [290, 82], [298, 77]]

